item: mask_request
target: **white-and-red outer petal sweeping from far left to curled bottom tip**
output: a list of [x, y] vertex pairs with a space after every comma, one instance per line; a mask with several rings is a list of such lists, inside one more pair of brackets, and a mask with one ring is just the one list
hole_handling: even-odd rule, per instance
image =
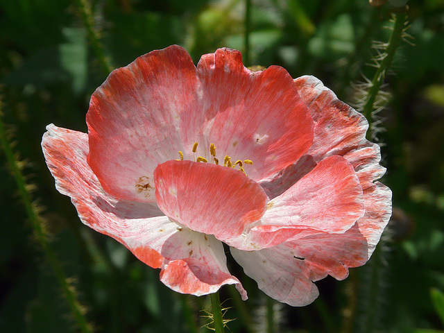
[[[220, 241], [180, 227], [155, 204], [110, 196], [87, 164], [87, 135], [53, 125], [47, 130], [42, 139], [46, 163], [58, 191], [71, 197], [83, 223], [117, 239], [148, 266], [162, 268], [162, 281], [174, 290], [202, 295], [237, 284], [246, 298], [239, 280], [228, 273]], [[172, 280], [178, 271], [173, 267], [181, 265], [183, 280]]]

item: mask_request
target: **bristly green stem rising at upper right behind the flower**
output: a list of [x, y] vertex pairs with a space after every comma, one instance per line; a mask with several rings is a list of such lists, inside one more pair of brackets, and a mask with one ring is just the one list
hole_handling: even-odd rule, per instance
[[396, 49], [398, 49], [398, 46], [402, 40], [402, 33], [404, 31], [404, 24], [406, 22], [406, 19], [407, 12], [400, 12], [398, 14], [395, 14], [395, 25], [393, 26], [390, 40], [388, 40], [388, 46], [385, 51], [384, 59], [377, 67], [375, 76], [373, 76], [370, 88], [368, 89], [366, 103], [362, 110], [362, 113], [368, 120], [368, 137], [371, 137], [371, 135], [373, 135], [373, 105], [375, 104], [379, 88], [384, 81], [386, 70], [388, 69], [388, 67], [390, 67], [393, 56], [395, 56]]

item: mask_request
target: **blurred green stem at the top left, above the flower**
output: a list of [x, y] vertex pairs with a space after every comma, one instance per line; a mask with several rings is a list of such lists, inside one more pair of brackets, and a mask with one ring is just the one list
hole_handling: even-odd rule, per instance
[[94, 28], [93, 15], [91, 10], [91, 5], [87, 0], [75, 0], [76, 6], [80, 12], [80, 18], [82, 19], [83, 25], [85, 26], [89, 42], [91, 43], [92, 49], [96, 54], [97, 59], [101, 65], [101, 69], [105, 76], [108, 76], [112, 71], [112, 66], [110, 62], [105, 57], [103, 52], [103, 45], [100, 42], [99, 31]]

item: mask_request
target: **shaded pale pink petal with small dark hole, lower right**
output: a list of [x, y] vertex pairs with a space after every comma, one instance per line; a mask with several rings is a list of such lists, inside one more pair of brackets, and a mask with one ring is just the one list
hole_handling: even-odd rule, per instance
[[349, 267], [360, 266], [368, 259], [366, 239], [357, 225], [342, 234], [317, 232], [258, 251], [230, 250], [259, 289], [292, 306], [304, 306], [316, 299], [318, 290], [312, 282], [328, 274], [345, 279]]

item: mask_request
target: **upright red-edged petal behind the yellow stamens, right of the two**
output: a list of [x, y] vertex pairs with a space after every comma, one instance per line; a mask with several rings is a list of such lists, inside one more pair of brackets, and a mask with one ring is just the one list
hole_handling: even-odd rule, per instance
[[253, 160], [246, 167], [253, 180], [296, 162], [311, 146], [311, 117], [282, 67], [253, 72], [244, 67], [239, 51], [219, 49], [200, 59], [198, 77], [202, 119], [208, 119], [203, 137], [216, 145], [220, 157]]

